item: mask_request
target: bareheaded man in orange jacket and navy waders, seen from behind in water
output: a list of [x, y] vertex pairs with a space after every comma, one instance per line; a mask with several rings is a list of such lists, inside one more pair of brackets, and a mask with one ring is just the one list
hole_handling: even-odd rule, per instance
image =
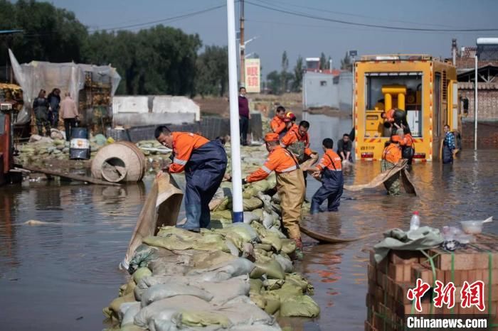
[[337, 212], [344, 187], [341, 157], [332, 149], [334, 141], [326, 138], [322, 142], [322, 146], [325, 152], [322, 160], [316, 167], [308, 169], [314, 171], [314, 178], [319, 178], [322, 175], [322, 187], [312, 197], [311, 214], [317, 214], [320, 211], [319, 207], [324, 200], [328, 200], [327, 210], [329, 212]]

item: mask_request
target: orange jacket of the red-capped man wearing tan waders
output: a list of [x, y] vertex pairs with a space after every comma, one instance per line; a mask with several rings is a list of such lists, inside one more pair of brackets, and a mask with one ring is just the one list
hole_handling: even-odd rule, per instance
[[248, 183], [257, 182], [258, 180], [263, 180], [275, 170], [275, 173], [289, 173], [297, 169], [297, 159], [295, 156], [287, 151], [282, 146], [276, 146], [273, 151], [268, 154], [265, 164], [256, 170], [254, 173], [248, 175], [245, 180]]

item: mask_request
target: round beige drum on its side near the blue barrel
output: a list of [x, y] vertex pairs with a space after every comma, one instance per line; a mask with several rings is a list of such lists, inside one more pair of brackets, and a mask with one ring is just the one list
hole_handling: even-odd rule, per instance
[[112, 183], [139, 182], [146, 166], [144, 153], [137, 146], [119, 141], [100, 148], [92, 161], [92, 176]]

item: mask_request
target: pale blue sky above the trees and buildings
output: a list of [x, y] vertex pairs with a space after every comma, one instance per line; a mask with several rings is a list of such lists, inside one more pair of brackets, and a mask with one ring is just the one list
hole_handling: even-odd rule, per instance
[[[53, 0], [55, 6], [74, 11], [90, 29], [116, 28], [164, 18], [181, 16], [194, 11], [226, 4], [226, 0]], [[259, 5], [259, 6], [256, 6]], [[480, 36], [498, 37], [494, 32], [413, 32], [385, 30], [317, 19], [292, 16], [272, 11], [292, 11], [308, 16], [332, 18], [373, 25], [405, 28], [498, 28], [495, 0], [246, 0], [245, 36], [259, 38], [248, 43], [246, 54], [258, 53], [263, 75], [280, 70], [282, 52], [287, 50], [290, 68], [298, 55], [318, 57], [331, 55], [334, 67], [346, 50], [361, 54], [429, 53], [450, 57], [451, 39], [462, 45], [475, 45]], [[238, 4], [235, 4], [238, 19]], [[198, 33], [204, 45], [226, 45], [226, 7], [196, 16], [167, 21], [165, 25]], [[236, 23], [238, 26], [238, 22]], [[150, 25], [142, 27], [147, 28]], [[128, 28], [137, 31], [140, 27]]]

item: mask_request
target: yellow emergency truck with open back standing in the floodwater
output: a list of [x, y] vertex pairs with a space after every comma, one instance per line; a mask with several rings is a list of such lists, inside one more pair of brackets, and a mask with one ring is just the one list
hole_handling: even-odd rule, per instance
[[354, 65], [356, 160], [379, 161], [390, 131], [381, 113], [406, 111], [413, 161], [440, 158], [443, 126], [461, 132], [456, 68], [431, 55], [366, 55]]

